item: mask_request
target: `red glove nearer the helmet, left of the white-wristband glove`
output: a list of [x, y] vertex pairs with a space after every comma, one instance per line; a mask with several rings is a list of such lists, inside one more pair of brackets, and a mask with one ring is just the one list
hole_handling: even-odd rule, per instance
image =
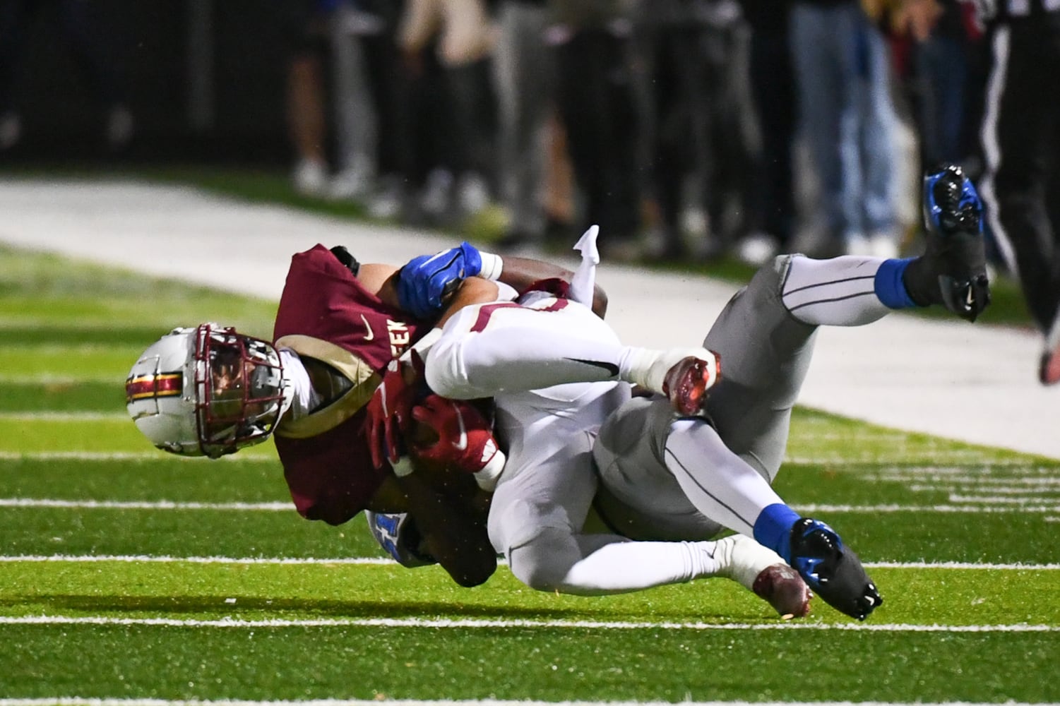
[[365, 433], [376, 469], [383, 467], [385, 460], [396, 463], [401, 457], [401, 439], [412, 424], [412, 405], [422, 380], [423, 360], [412, 351], [409, 363], [390, 361], [368, 401]]

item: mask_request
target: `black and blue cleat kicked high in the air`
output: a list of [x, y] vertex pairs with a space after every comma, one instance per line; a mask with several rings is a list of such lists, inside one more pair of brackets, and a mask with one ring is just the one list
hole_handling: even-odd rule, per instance
[[964, 170], [951, 164], [924, 176], [928, 259], [935, 263], [942, 303], [974, 321], [990, 303], [983, 240], [983, 202]]

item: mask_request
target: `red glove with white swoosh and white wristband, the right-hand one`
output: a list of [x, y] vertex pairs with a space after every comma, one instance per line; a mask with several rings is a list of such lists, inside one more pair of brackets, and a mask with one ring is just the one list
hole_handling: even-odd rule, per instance
[[[471, 403], [428, 394], [412, 408], [412, 419], [438, 435], [437, 441], [414, 446], [418, 458], [465, 473], [502, 467], [490, 422]], [[492, 475], [499, 475], [500, 467]]]

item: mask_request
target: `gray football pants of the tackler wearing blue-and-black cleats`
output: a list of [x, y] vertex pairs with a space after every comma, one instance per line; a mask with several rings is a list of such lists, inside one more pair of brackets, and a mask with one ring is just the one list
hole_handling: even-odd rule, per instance
[[[704, 339], [722, 378], [707, 411], [725, 444], [771, 483], [780, 470], [792, 407], [809, 369], [817, 326], [780, 300], [792, 255], [763, 267], [729, 300]], [[710, 539], [722, 528], [701, 514], [667, 470], [674, 421], [669, 401], [635, 398], [603, 423], [594, 446], [596, 509], [614, 531], [638, 540]]]

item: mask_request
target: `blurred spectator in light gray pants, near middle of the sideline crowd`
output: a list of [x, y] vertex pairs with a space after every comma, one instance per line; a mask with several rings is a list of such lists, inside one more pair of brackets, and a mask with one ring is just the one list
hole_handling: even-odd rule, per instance
[[500, 200], [510, 225], [506, 250], [542, 245], [545, 141], [555, 81], [551, 49], [545, 45], [547, 0], [500, 0], [493, 69], [499, 118]]

